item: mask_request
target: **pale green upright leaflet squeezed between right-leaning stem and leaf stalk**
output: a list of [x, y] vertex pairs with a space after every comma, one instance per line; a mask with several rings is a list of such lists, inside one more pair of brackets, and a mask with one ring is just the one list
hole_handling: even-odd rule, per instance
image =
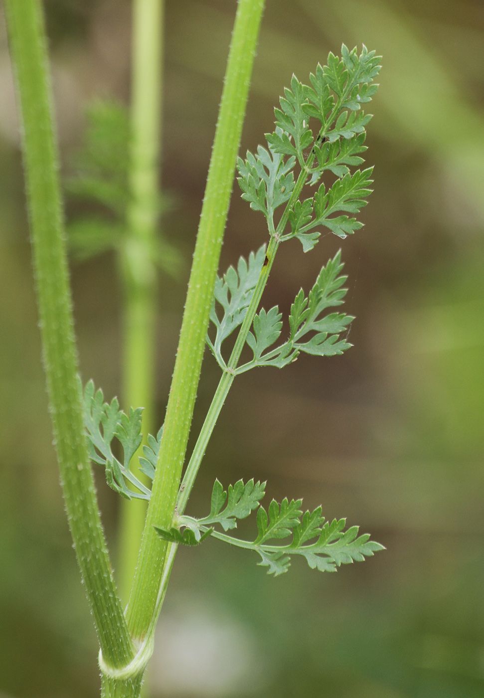
[[[241, 257], [239, 265], [237, 265], [237, 271], [234, 267], [229, 267], [223, 279], [220, 279], [220, 276], [217, 276], [217, 279], [215, 279], [210, 319], [213, 325], [215, 325], [217, 334], [213, 343], [207, 334], [206, 343], [222, 369], [225, 369], [225, 361], [220, 353], [220, 347], [222, 342], [234, 332], [236, 327], [242, 324], [243, 318], [245, 318], [245, 313], [247, 313], [257, 279], [259, 279], [265, 256], [266, 246], [263, 245], [259, 248], [257, 254], [250, 253], [248, 263]], [[219, 320], [217, 315], [215, 301], [220, 303], [224, 311], [221, 320]]]

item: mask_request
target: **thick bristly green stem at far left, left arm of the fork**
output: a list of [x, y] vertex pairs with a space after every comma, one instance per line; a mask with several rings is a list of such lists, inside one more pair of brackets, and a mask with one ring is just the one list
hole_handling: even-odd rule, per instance
[[22, 114], [43, 360], [61, 483], [103, 656], [110, 666], [121, 667], [133, 658], [133, 644], [112, 577], [84, 439], [44, 18], [38, 0], [6, 0], [4, 8]]

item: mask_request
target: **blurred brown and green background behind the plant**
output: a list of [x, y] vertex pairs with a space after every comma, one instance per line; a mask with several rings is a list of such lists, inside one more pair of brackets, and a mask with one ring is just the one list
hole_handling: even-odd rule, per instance
[[[163, 227], [186, 268], [179, 283], [160, 280], [160, 422], [235, 5], [167, 0], [161, 179], [174, 207]], [[89, 101], [128, 101], [130, 4], [45, 7], [67, 171]], [[0, 697], [87, 698], [98, 695], [96, 637], [56, 473], [4, 27], [0, 36]], [[206, 511], [215, 476], [253, 476], [269, 481], [266, 501], [322, 503], [387, 551], [337, 574], [296, 559], [272, 579], [255, 556], [215, 540], [181, 550], [147, 695], [483, 695], [483, 39], [482, 0], [267, 0], [242, 152], [272, 130], [293, 71], [307, 81], [343, 41], [384, 56], [365, 228], [322, 237], [307, 255], [285, 244], [264, 298], [287, 314], [342, 247], [354, 348], [237, 378], [188, 513]], [[222, 270], [264, 242], [263, 223], [236, 187]], [[120, 389], [114, 258], [72, 274], [83, 378], [110, 399]], [[207, 354], [192, 436], [218, 376]], [[98, 475], [115, 549], [118, 500]]]

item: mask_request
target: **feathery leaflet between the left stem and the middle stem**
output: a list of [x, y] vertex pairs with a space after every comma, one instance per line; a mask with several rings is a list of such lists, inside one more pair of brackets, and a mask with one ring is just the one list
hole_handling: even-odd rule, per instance
[[[149, 500], [151, 496], [149, 489], [130, 470], [131, 459], [142, 442], [142, 411], [142, 408], [135, 410], [130, 408], [129, 415], [126, 415], [119, 409], [116, 398], [113, 398], [110, 404], [105, 403], [103, 391], [100, 388], [95, 390], [92, 380], [89, 380], [86, 385], [84, 390], [84, 428], [86, 429], [89, 457], [94, 463], [105, 466], [107, 484], [126, 499]], [[159, 438], [161, 438], [161, 433], [160, 430], [158, 432]], [[123, 463], [114, 456], [111, 450], [114, 438], [123, 447]], [[136, 487], [138, 491], [130, 489], [126, 481]]]

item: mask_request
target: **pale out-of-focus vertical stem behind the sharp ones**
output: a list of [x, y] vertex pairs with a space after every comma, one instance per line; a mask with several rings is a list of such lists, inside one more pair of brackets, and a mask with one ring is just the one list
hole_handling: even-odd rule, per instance
[[[144, 443], [154, 430], [158, 165], [162, 102], [164, 0], [133, 0], [131, 159], [128, 238], [122, 253], [124, 286], [123, 402], [142, 405]], [[135, 458], [142, 454], [142, 446]], [[143, 477], [140, 474], [140, 477]], [[147, 484], [144, 482], [144, 484]], [[123, 500], [119, 533], [119, 586], [128, 601], [142, 537], [146, 503]]]

